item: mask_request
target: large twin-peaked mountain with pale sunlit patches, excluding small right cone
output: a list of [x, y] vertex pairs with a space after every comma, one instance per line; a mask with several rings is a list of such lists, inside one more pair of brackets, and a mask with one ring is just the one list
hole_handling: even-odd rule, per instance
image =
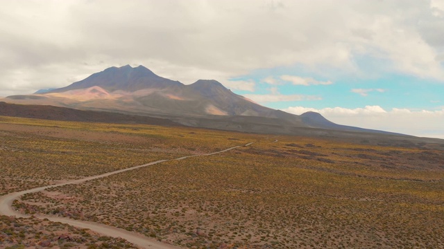
[[48, 104], [139, 115], [285, 118], [293, 124], [302, 125], [298, 116], [262, 107], [232, 93], [216, 80], [198, 80], [185, 85], [155, 75], [144, 66], [111, 67], [60, 89], [34, 95], [9, 96], [7, 99], [22, 104]]

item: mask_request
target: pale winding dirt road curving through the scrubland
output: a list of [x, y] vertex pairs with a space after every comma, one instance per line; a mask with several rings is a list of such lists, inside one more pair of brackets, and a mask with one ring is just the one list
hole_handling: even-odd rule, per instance
[[[249, 146], [253, 144], [253, 142], [249, 142], [248, 144], [244, 145], [244, 146]], [[232, 149], [236, 149], [241, 147], [239, 146], [234, 146], [228, 149], [224, 149], [221, 151], [216, 151], [213, 153], [209, 153], [209, 154], [201, 154], [201, 155], [192, 155], [192, 156], [182, 156], [180, 158], [176, 158], [176, 159], [169, 159], [169, 160], [184, 160], [186, 158], [190, 158], [190, 157], [195, 157], [195, 156], [212, 156], [214, 154], [221, 154], [223, 152], [226, 151], [230, 151]], [[34, 193], [34, 192], [40, 192], [42, 190], [46, 190], [49, 187], [58, 187], [58, 186], [63, 186], [63, 185], [69, 185], [69, 184], [78, 184], [78, 183], [84, 183], [85, 181], [90, 181], [90, 180], [94, 180], [97, 178], [103, 178], [106, 176], [111, 176], [113, 174], [119, 174], [122, 172], [127, 172], [133, 169], [139, 169], [141, 167], [146, 167], [149, 165], [155, 165], [157, 163], [164, 163], [167, 162], [169, 160], [157, 160], [155, 162], [151, 162], [151, 163], [146, 163], [144, 165], [138, 165], [135, 167], [129, 167], [126, 169], [119, 169], [116, 170], [114, 172], [108, 172], [105, 174], [100, 174], [97, 176], [88, 176], [82, 179], [78, 179], [78, 180], [73, 180], [73, 181], [68, 181], [66, 183], [59, 183], [59, 184], [54, 184], [54, 185], [48, 185], [48, 186], [44, 186], [44, 187], [35, 187], [31, 190], [24, 190], [24, 191], [20, 191], [20, 192], [12, 192], [10, 194], [6, 194], [4, 196], [0, 196], [0, 214], [6, 215], [6, 216], [16, 216], [16, 217], [29, 217], [30, 215], [27, 214], [22, 214], [20, 212], [17, 212], [16, 210], [12, 209], [12, 201], [14, 201], [15, 199], [18, 199], [20, 196], [24, 195], [24, 194], [28, 194], [28, 193]], [[112, 226], [109, 225], [103, 225], [101, 223], [95, 223], [95, 222], [91, 222], [91, 221], [78, 221], [78, 220], [74, 220], [74, 219], [68, 219], [68, 218], [64, 218], [64, 217], [58, 217], [58, 216], [44, 216], [44, 215], [35, 215], [35, 217], [39, 218], [39, 219], [49, 219], [50, 221], [54, 221], [54, 222], [61, 222], [61, 223], [67, 223], [69, 225], [73, 225], [77, 228], [87, 228], [89, 230], [92, 230], [94, 232], [98, 232], [100, 234], [103, 234], [105, 236], [110, 236], [110, 237], [121, 237], [123, 239], [126, 239], [128, 241], [130, 241], [131, 243], [134, 243], [136, 246], [139, 246], [141, 248], [158, 248], [158, 249], [171, 249], [171, 248], [178, 248], [177, 246], [171, 246], [169, 244], [166, 243], [162, 243], [160, 241], [156, 241], [155, 239], [151, 239], [148, 237], [145, 237], [142, 234], [137, 234], [134, 232], [129, 232], [127, 230], [123, 230], [120, 228], [114, 228]]]

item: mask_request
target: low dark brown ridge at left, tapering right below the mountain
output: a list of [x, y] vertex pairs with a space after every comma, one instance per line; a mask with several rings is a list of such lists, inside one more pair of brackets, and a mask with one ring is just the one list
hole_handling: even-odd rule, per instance
[[138, 123], [181, 126], [181, 124], [163, 118], [133, 116], [105, 111], [80, 111], [65, 107], [44, 105], [8, 104], [6, 102], [0, 102], [0, 116], [79, 122]]

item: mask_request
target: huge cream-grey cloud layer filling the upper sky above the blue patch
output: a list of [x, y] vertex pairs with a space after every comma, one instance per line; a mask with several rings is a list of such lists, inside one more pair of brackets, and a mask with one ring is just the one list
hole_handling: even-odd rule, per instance
[[[444, 80], [436, 59], [443, 52], [442, 1], [6, 0], [1, 4], [2, 91], [60, 86], [79, 75], [125, 64], [144, 64], [161, 76], [187, 82], [226, 81], [259, 68], [293, 65], [328, 79], [334, 79], [335, 73], [363, 77], [373, 73], [358, 64], [357, 57], [382, 62], [372, 68], [375, 74], [395, 71]], [[309, 79], [294, 82], [315, 84]]]

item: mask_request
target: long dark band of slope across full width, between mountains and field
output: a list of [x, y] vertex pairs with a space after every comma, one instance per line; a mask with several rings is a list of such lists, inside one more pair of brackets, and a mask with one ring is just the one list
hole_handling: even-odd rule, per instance
[[[8, 104], [0, 102], [0, 116], [20, 118], [39, 118], [46, 120], [78, 121], [78, 122], [108, 122], [108, 123], [137, 123], [162, 126], [182, 126], [164, 118], [133, 116], [104, 111], [80, 111], [65, 107], [46, 105]], [[170, 117], [171, 118], [171, 117]], [[177, 118], [176, 118], [177, 119]], [[175, 119], [175, 120], [176, 120]], [[437, 138], [416, 138], [395, 133], [345, 131], [334, 129], [320, 129], [313, 127], [293, 127], [291, 122], [284, 122], [276, 118], [262, 118], [252, 116], [219, 116], [214, 118], [185, 118], [194, 127], [210, 129], [240, 131], [249, 133], [274, 133], [282, 135], [313, 136], [332, 140], [344, 140], [366, 145], [383, 145], [395, 147], [422, 147], [443, 149], [444, 140]], [[180, 122], [180, 120], [177, 120]], [[190, 124], [189, 124], [190, 125]]]

